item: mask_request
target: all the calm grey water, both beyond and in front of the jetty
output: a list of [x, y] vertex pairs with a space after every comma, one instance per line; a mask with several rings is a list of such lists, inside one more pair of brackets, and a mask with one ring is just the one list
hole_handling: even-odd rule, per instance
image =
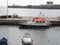
[[[60, 10], [51, 9], [8, 9], [8, 14], [18, 14], [19, 16], [60, 16]], [[7, 14], [5, 7], [0, 7], [0, 15]], [[19, 26], [0, 25], [0, 39], [4, 36], [8, 38], [8, 45], [22, 45], [21, 39], [25, 33], [30, 33], [34, 40], [33, 45], [60, 45], [60, 27], [51, 27], [49, 29], [20, 29]], [[49, 41], [48, 41], [49, 40]]]

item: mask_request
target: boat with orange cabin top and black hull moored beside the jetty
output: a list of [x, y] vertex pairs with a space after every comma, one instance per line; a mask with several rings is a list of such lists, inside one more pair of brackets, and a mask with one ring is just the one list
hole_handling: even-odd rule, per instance
[[22, 28], [48, 28], [49, 24], [44, 17], [36, 17], [31, 21], [19, 24]]

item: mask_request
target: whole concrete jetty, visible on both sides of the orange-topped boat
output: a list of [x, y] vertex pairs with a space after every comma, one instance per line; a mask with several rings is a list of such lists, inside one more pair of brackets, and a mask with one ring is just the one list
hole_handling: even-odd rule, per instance
[[[19, 24], [32, 20], [34, 17], [18, 17], [18, 18], [0, 18], [0, 24]], [[54, 26], [60, 26], [60, 17], [46, 17], [46, 20]]]

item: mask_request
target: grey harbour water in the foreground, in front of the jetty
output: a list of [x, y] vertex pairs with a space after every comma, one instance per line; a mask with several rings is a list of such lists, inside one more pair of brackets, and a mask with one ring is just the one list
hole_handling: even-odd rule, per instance
[[33, 45], [60, 45], [60, 27], [20, 29], [19, 26], [0, 25], [0, 39], [3, 36], [8, 38], [8, 45], [22, 45], [21, 39], [27, 32], [34, 40]]

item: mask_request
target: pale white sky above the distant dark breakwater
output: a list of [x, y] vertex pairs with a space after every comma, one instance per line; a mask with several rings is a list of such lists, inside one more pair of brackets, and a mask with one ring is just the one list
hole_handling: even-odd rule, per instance
[[[8, 5], [40, 5], [47, 1], [53, 1], [54, 4], [60, 4], [60, 0], [8, 0]], [[0, 0], [0, 6], [6, 6], [7, 0]]]

